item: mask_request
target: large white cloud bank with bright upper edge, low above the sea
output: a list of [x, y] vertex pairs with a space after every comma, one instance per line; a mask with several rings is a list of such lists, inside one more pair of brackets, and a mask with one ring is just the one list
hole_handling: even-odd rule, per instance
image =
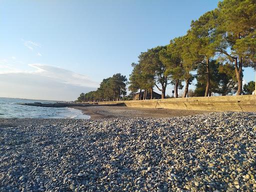
[[20, 70], [0, 64], [0, 96], [75, 100], [81, 92], [95, 90], [97, 82], [64, 68], [40, 63]]

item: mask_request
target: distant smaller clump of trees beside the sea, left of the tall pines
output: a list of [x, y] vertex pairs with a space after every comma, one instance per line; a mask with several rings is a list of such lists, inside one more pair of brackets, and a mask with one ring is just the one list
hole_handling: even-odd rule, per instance
[[95, 91], [81, 93], [78, 102], [120, 100], [126, 95], [127, 78], [120, 73], [104, 78]]

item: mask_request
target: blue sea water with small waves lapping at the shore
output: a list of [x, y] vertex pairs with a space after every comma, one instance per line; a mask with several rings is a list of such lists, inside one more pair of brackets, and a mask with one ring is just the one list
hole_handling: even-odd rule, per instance
[[21, 102], [56, 102], [54, 100], [32, 100], [0, 97], [0, 118], [74, 118], [89, 119], [89, 115], [69, 107], [41, 107], [20, 105]]

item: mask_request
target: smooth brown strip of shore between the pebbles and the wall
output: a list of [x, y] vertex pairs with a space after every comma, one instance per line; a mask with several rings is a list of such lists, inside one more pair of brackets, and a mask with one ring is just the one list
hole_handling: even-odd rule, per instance
[[194, 114], [209, 113], [203, 110], [174, 110], [167, 108], [135, 108], [127, 106], [75, 106], [84, 114], [90, 115], [91, 119], [115, 118], [115, 117], [173, 117]]

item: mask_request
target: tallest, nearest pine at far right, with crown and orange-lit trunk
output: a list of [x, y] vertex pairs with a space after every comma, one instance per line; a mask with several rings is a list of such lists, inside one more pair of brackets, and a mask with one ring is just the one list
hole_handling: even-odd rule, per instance
[[240, 94], [242, 67], [256, 67], [256, 0], [223, 0], [214, 11], [216, 51], [234, 64]]

